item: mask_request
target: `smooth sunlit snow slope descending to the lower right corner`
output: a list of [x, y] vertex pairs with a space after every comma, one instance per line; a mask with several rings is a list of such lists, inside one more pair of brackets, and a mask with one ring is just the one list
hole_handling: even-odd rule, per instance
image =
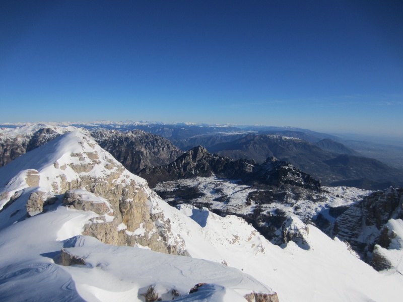
[[[194, 219], [189, 221], [168, 205], [160, 205], [193, 257], [241, 269], [270, 284], [282, 302], [400, 300], [401, 274], [375, 271], [345, 243], [330, 239], [312, 225], [308, 225], [306, 234], [309, 250], [294, 242], [281, 248], [265, 240], [241, 218], [223, 218], [207, 209], [182, 205], [181, 212]], [[294, 221], [303, 225], [297, 217]]]

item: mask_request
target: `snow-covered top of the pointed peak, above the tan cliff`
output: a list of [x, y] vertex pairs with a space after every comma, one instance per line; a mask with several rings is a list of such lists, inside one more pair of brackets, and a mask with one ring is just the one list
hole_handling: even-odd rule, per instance
[[[34, 178], [37, 179], [35, 181], [37, 186], [59, 192], [63, 182], [71, 182], [84, 175], [105, 177], [113, 173], [122, 173], [119, 181], [127, 182], [126, 176], [129, 173], [123, 171], [122, 165], [106, 153], [95, 140], [77, 130], [32, 150], [0, 171], [2, 172], [0, 181], [7, 184], [4, 190], [8, 190], [11, 194], [17, 189], [32, 186], [30, 182]], [[15, 175], [20, 177], [13, 179]], [[139, 183], [145, 182], [141, 178], [136, 179]]]

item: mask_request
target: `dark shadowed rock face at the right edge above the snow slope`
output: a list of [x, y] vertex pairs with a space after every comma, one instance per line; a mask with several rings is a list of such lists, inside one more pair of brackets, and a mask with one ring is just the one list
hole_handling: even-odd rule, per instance
[[[347, 241], [360, 257], [376, 269], [387, 267], [388, 261], [377, 252], [388, 248], [393, 232], [390, 219], [403, 218], [403, 189], [389, 188], [366, 196], [343, 212], [334, 223], [332, 235]], [[378, 249], [374, 249], [376, 245]]]

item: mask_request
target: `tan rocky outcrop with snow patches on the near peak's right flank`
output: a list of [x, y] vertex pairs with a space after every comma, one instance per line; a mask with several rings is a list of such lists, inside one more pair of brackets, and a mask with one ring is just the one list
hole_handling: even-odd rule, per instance
[[[141, 245], [157, 252], [186, 254], [184, 249], [167, 243], [169, 221], [162, 213], [159, 217], [151, 216], [152, 204], [145, 189], [133, 180], [124, 186], [115, 181], [117, 178], [119, 175], [115, 173], [104, 178], [81, 177], [60, 188], [59, 192], [66, 190], [65, 206], [102, 215], [85, 226], [83, 235], [107, 244]], [[165, 224], [161, 232], [154, 224], [159, 222]], [[160, 235], [165, 236], [165, 240]], [[181, 246], [180, 243], [177, 245]]]

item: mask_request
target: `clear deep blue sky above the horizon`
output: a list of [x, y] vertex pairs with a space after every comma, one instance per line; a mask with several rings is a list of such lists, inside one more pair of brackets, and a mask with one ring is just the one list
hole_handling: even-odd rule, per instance
[[403, 2], [1, 1], [0, 123], [403, 135]]

